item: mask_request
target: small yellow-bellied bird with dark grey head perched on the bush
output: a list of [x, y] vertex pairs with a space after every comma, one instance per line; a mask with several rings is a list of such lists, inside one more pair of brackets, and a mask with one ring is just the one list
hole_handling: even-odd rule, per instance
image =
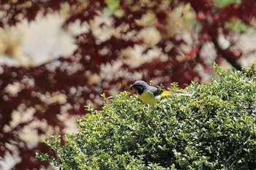
[[162, 90], [161, 88], [156, 88], [154, 86], [148, 85], [143, 80], [137, 80], [132, 85], [129, 86], [130, 90], [135, 88], [137, 90], [138, 98], [145, 104], [156, 104], [161, 98], [170, 95], [179, 96], [192, 96], [192, 94], [186, 93], [173, 93], [169, 90]]

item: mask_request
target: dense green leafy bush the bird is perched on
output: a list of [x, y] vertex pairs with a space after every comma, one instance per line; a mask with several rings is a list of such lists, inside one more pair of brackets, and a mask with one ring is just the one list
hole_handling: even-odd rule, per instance
[[256, 63], [214, 67], [217, 79], [182, 90], [192, 97], [166, 97], [154, 109], [127, 91], [102, 95], [102, 111], [87, 106], [78, 134], [45, 140], [57, 160], [37, 158], [62, 169], [255, 169]]

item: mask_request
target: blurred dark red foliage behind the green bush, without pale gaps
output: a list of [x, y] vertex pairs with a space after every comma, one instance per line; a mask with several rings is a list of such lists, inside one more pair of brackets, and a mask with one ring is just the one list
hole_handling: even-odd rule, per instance
[[[69, 17], [64, 23], [64, 27], [69, 26], [79, 20], [80, 23], [87, 23], [89, 20], [99, 15], [108, 5], [105, 1], [89, 1], [86, 6], [80, 4], [78, 0], [65, 1], [7, 1], [0, 2], [0, 27], [15, 26], [21, 20], [34, 20], [38, 13], [44, 15], [50, 12], [58, 12], [61, 4], [67, 3], [70, 8]], [[178, 33], [170, 34], [168, 24], [168, 16], [173, 9], [182, 3], [189, 3], [195, 11], [197, 23], [200, 23], [200, 31], [197, 34], [195, 43], [190, 47], [189, 51], [181, 52], [181, 46], [189, 46], [186, 40]], [[34, 161], [34, 152], [48, 152], [45, 144], [39, 143], [31, 148], [18, 134], [20, 131], [33, 120], [44, 120], [53, 127], [53, 133], [64, 134], [64, 122], [59, 119], [61, 108], [69, 104], [70, 115], [84, 115], [84, 105], [89, 101], [94, 103], [96, 107], [100, 107], [102, 103], [97, 100], [96, 96], [100, 93], [106, 93], [109, 96], [111, 90], [116, 92], [128, 90], [127, 85], [133, 82], [132, 77], [120, 76], [118, 72], [124, 70], [127, 74], [141, 72], [143, 80], [156, 80], [163, 82], [165, 86], [169, 86], [170, 82], [178, 82], [181, 87], [189, 84], [192, 80], [200, 80], [201, 77], [195, 67], [199, 64], [203, 66], [203, 71], [210, 72], [211, 68], [206, 64], [206, 58], [203, 58], [202, 47], [206, 42], [211, 42], [217, 52], [219, 58], [225, 58], [236, 69], [241, 69], [238, 59], [242, 53], [233, 50], [236, 44], [230, 45], [227, 49], [222, 49], [219, 45], [218, 37], [224, 34], [225, 37], [230, 36], [230, 29], [225, 28], [225, 22], [233, 19], [240, 19], [243, 23], [250, 25], [250, 20], [255, 18], [256, 9], [252, 4], [256, 4], [255, 0], [244, 0], [241, 4], [229, 4], [225, 7], [214, 7], [211, 0], [192, 0], [192, 1], [151, 1], [149, 4], [140, 4], [140, 1], [120, 1], [119, 9], [122, 9], [124, 15], [121, 17], [113, 16], [113, 28], [118, 28], [124, 23], [129, 27], [127, 30], [121, 31], [118, 36], [110, 36], [103, 42], [97, 42], [97, 37], [93, 31], [75, 36], [75, 43], [78, 48], [73, 55], [60, 57], [59, 59], [50, 61], [49, 63], [35, 66], [33, 68], [2, 66], [4, 72], [0, 74], [0, 156], [9, 151], [7, 144], [18, 147], [22, 161], [18, 163], [14, 169], [39, 169], [40, 166], [48, 166], [47, 163], [39, 163]], [[145, 61], [140, 66], [131, 67], [129, 63], [123, 62], [118, 72], [111, 73], [111, 79], [108, 73], [99, 77], [97, 82], [91, 82], [91, 75], [99, 75], [102, 65], [111, 64], [117, 60], [126, 60], [129, 56], [121, 56], [122, 50], [128, 47], [140, 45], [143, 47], [142, 55], [148, 55], [153, 47], [147, 46], [143, 39], [140, 39], [138, 33], [145, 28], [138, 24], [137, 20], [143, 18], [148, 12], [154, 12], [155, 22], [154, 28], [162, 34], [162, 39], [157, 42], [158, 49], [167, 55], [167, 60], [159, 60], [154, 58]], [[21, 16], [21, 17], [20, 17]], [[103, 28], [104, 23], [101, 25]], [[128, 34], [135, 32], [132, 37]], [[151, 36], [151, 35], [148, 35]], [[127, 38], [128, 37], [128, 38]], [[178, 38], [179, 37], [179, 38]], [[169, 47], [170, 44], [175, 45]], [[232, 47], [231, 47], [232, 46]], [[102, 50], [107, 49], [107, 53]], [[169, 49], [169, 50], [166, 50]], [[180, 57], [180, 58], [179, 58]], [[142, 58], [143, 59], [143, 58]], [[137, 61], [134, 61], [137, 62]], [[110, 71], [111, 71], [110, 67]], [[31, 83], [29, 81], [32, 81]], [[19, 83], [20, 90], [17, 94], [7, 91], [8, 85]], [[48, 101], [50, 99], [42, 99], [42, 96], [50, 96], [64, 94], [64, 101]], [[63, 96], [62, 96], [63, 97]], [[32, 120], [26, 123], [20, 123], [10, 131], [4, 130], [6, 125], [12, 121], [12, 113], [18, 110], [20, 104], [26, 108], [33, 107], [34, 115]], [[22, 112], [20, 113], [22, 114]], [[56, 130], [59, 127], [59, 130]], [[37, 128], [37, 133], [45, 134], [48, 129]]]

